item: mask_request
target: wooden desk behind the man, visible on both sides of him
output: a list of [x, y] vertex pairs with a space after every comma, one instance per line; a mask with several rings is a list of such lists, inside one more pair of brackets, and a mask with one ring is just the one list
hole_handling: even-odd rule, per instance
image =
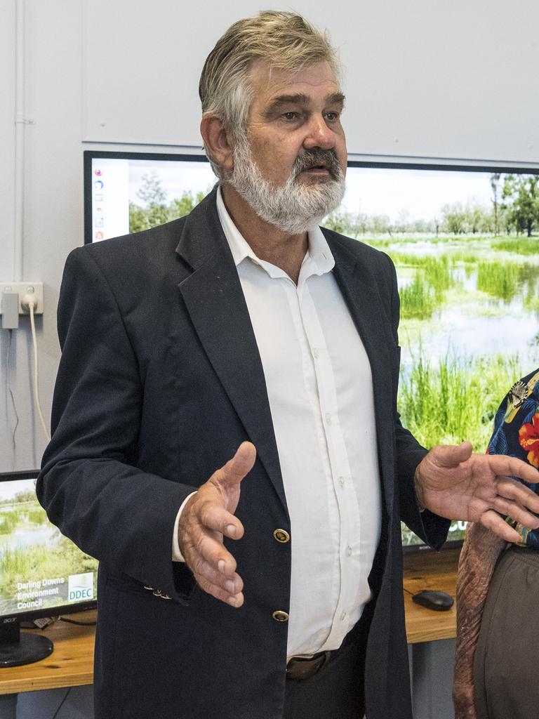
[[[454, 597], [458, 561], [458, 550], [447, 550], [438, 554], [420, 551], [405, 555], [404, 598], [406, 633], [410, 644], [455, 636], [454, 606], [448, 612], [433, 612], [413, 603], [412, 595], [421, 589], [441, 589]], [[70, 615], [70, 618], [91, 621], [95, 615], [95, 612], [83, 612]], [[92, 684], [95, 638], [93, 626], [57, 621], [40, 633], [54, 642], [54, 651], [47, 659], [34, 664], [0, 668], [0, 695]]]

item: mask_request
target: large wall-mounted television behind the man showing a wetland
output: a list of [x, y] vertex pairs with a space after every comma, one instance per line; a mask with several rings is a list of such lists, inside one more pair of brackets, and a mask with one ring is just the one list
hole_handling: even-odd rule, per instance
[[[186, 214], [216, 182], [203, 155], [85, 152], [84, 173], [86, 242]], [[499, 402], [539, 366], [538, 168], [351, 160], [324, 224], [397, 267], [402, 423], [484, 452]], [[404, 525], [402, 544], [426, 549]]]

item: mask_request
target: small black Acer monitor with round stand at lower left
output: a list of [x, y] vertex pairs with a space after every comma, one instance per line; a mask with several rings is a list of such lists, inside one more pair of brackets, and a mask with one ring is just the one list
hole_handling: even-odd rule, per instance
[[20, 631], [22, 621], [96, 607], [97, 560], [48, 521], [35, 493], [37, 475], [0, 474], [0, 667], [52, 652], [47, 637]]

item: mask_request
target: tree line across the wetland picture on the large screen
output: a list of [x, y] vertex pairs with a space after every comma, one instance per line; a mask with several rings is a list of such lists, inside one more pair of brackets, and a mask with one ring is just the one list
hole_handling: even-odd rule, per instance
[[[532, 237], [539, 228], [539, 175], [493, 173], [490, 176], [491, 202], [453, 202], [443, 205], [437, 216], [413, 219], [402, 210], [397, 219], [384, 214], [368, 215], [337, 209], [324, 225], [349, 237], [389, 234], [525, 234]], [[183, 193], [167, 201], [157, 173], [142, 176], [137, 191], [141, 203], [129, 203], [129, 232], [140, 232], [188, 214], [205, 193]]]

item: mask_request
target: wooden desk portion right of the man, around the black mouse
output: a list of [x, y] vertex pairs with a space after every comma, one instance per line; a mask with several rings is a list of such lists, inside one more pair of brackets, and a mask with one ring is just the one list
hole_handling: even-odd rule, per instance
[[456, 636], [456, 604], [446, 612], [436, 612], [412, 601], [422, 589], [438, 589], [456, 596], [456, 570], [459, 549], [418, 551], [404, 557], [404, 599], [408, 644]]

